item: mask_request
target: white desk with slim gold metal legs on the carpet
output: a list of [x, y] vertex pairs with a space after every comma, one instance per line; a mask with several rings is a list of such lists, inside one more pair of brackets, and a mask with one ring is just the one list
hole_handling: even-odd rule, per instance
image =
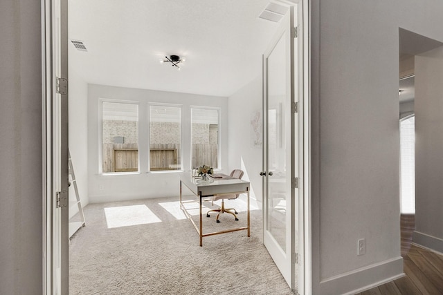
[[[226, 175], [227, 176], [227, 175]], [[192, 222], [192, 225], [194, 225], [195, 229], [197, 230], [197, 233], [200, 236], [200, 246], [203, 246], [203, 237], [205, 236], [213, 236], [217, 234], [225, 234], [231, 231], [241, 231], [243, 229], [246, 229], [248, 231], [248, 236], [251, 236], [251, 227], [250, 227], [250, 214], [249, 214], [249, 182], [244, 180], [239, 180], [237, 178], [235, 179], [215, 179], [214, 182], [211, 182], [209, 184], [199, 184], [197, 182], [199, 178], [193, 178], [191, 173], [181, 173], [180, 175], [180, 209], [183, 210], [186, 217]], [[195, 194], [195, 196], [199, 197], [199, 203], [200, 203], [200, 224], [197, 227], [194, 220], [192, 220], [190, 214], [186, 210], [186, 208], [183, 206], [183, 201], [181, 200], [181, 185], [184, 184], [192, 193]], [[221, 194], [232, 194], [232, 193], [246, 193], [248, 195], [248, 209], [247, 209], [247, 226], [246, 227], [238, 227], [235, 229], [225, 229], [223, 231], [215, 231], [208, 234], [203, 234], [203, 225], [202, 225], [202, 212], [201, 212], [201, 205], [203, 202], [203, 198], [208, 196], [214, 196], [214, 195], [221, 195]], [[190, 202], [190, 201], [185, 201]], [[195, 202], [195, 201], [192, 201]]]

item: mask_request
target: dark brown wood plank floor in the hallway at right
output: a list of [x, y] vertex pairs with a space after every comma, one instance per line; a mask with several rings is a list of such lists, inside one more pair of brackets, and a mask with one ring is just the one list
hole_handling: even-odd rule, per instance
[[359, 293], [369, 294], [443, 294], [443, 256], [411, 245], [415, 216], [401, 216], [401, 256], [406, 276]]

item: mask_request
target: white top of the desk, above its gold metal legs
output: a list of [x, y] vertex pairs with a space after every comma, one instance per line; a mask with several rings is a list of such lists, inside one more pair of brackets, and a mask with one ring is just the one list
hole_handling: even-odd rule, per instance
[[190, 172], [180, 173], [180, 181], [197, 196], [206, 197], [222, 193], [243, 193], [249, 190], [249, 182], [237, 178], [214, 178], [214, 182], [200, 184]]

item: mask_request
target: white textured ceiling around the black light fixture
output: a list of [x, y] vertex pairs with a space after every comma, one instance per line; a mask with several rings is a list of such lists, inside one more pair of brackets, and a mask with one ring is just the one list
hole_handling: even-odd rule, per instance
[[[229, 96], [261, 74], [269, 0], [71, 0], [69, 66], [85, 82]], [[186, 57], [177, 70], [165, 55]]]

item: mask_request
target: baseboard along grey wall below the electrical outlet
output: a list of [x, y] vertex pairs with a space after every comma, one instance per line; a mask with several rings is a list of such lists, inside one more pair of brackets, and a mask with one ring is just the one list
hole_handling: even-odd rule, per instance
[[322, 280], [320, 294], [352, 295], [402, 276], [404, 276], [403, 258], [399, 256]]

